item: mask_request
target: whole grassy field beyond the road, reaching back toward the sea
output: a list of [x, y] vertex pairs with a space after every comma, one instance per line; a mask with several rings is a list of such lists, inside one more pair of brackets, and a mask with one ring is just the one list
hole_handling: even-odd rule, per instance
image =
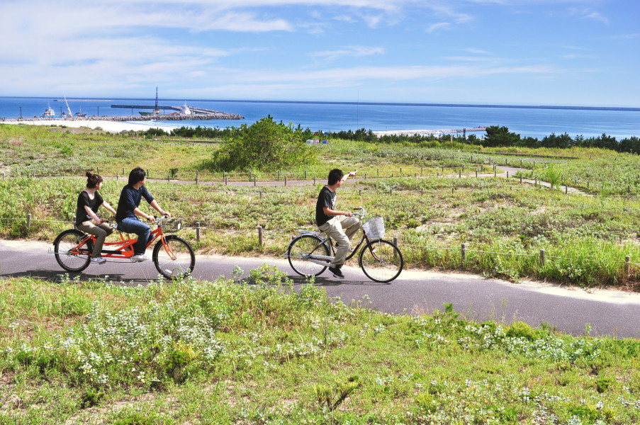
[[[422, 143], [432, 146], [433, 143]], [[640, 161], [603, 149], [433, 149], [416, 144], [333, 141], [318, 147], [318, 164], [279, 173], [208, 173], [219, 144], [148, 140], [88, 129], [0, 125], [0, 236], [45, 241], [67, 228], [85, 169], [108, 180], [103, 195], [117, 204], [124, 174], [142, 165], [155, 197], [182, 217], [196, 248], [220, 254], [279, 255], [298, 228], [313, 229], [315, 198], [327, 169], [358, 169], [359, 181], [339, 193], [339, 208], [363, 205], [385, 217], [410, 267], [465, 270], [518, 280], [548, 279], [584, 287], [635, 288], [640, 279]], [[454, 142], [454, 147], [462, 146]], [[508, 152], [507, 152], [508, 151]], [[82, 154], [78, 154], [82, 152]], [[524, 157], [500, 154], [524, 154]], [[527, 156], [528, 155], [528, 156]], [[537, 156], [536, 156], [537, 155]], [[573, 157], [577, 159], [566, 159]], [[564, 158], [564, 159], [563, 159]], [[526, 171], [492, 177], [494, 164]], [[199, 183], [194, 184], [198, 173]], [[478, 177], [476, 178], [476, 173]], [[551, 180], [559, 190], [526, 179]], [[62, 177], [64, 176], [64, 177]], [[165, 177], [191, 184], [162, 183]], [[310, 182], [315, 179], [315, 186]], [[284, 186], [305, 179], [306, 186]], [[116, 180], [117, 179], [117, 180]], [[276, 187], [225, 186], [276, 180]], [[257, 182], [256, 182], [257, 184]], [[571, 184], [594, 196], [566, 195]], [[31, 226], [26, 227], [26, 215]], [[256, 227], [266, 231], [259, 246]], [[462, 261], [461, 244], [466, 244]], [[544, 249], [546, 261], [540, 261]], [[629, 256], [629, 263], [625, 264]]]

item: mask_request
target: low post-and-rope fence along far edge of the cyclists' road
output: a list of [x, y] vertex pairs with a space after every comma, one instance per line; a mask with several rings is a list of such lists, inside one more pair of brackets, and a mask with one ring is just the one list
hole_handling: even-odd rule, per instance
[[[22, 217], [22, 218], [16, 218], [16, 217], [0, 217], [0, 221], [5, 220], [5, 221], [23, 221], [25, 222], [26, 225], [26, 229], [29, 229], [31, 227], [31, 223], [32, 222], [59, 222], [59, 223], [67, 223], [67, 224], [71, 224], [74, 225], [75, 227], [75, 217], [73, 217], [73, 219], [71, 221], [67, 221], [67, 220], [42, 220], [42, 219], [34, 219], [30, 214], [27, 214], [26, 217]], [[286, 233], [280, 233], [280, 232], [271, 232], [270, 230], [267, 231], [266, 229], [264, 229], [262, 226], [258, 226], [256, 229], [254, 230], [249, 230], [249, 229], [216, 229], [213, 227], [203, 227], [201, 226], [200, 222], [196, 222], [194, 225], [184, 225], [182, 227], [182, 229], [193, 229], [195, 231], [195, 239], [196, 242], [201, 242], [201, 237], [202, 237], [202, 232], [203, 231], [207, 231], [207, 232], [216, 232], [216, 233], [222, 233], [222, 234], [241, 234], [241, 235], [245, 235], [248, 237], [251, 237], [252, 234], [254, 235], [254, 237], [257, 237], [257, 242], [259, 244], [259, 246], [264, 246], [265, 244], [265, 237], [271, 236], [271, 237], [280, 237], [282, 239], [293, 239], [293, 237], [295, 237], [292, 234], [286, 234]], [[401, 235], [402, 236], [402, 235]], [[540, 249], [538, 253], [536, 254], [526, 254], [526, 253], [522, 253], [522, 252], [501, 252], [501, 251], [485, 251], [485, 250], [481, 250], [481, 249], [468, 249], [468, 246], [466, 243], [461, 244], [461, 246], [433, 246], [433, 245], [427, 245], [427, 244], [408, 244], [408, 243], [402, 243], [402, 242], [398, 242], [398, 237], [393, 237], [393, 242], [394, 244], [397, 244], [398, 246], [402, 247], [402, 246], [407, 246], [410, 248], [417, 248], [417, 249], [436, 249], [436, 250], [444, 250], [444, 251], [459, 251], [460, 253], [460, 261], [461, 263], [466, 263], [467, 261], [467, 256], [470, 253], [476, 253], [476, 254], [492, 254], [495, 256], [522, 256], [522, 257], [537, 257], [538, 261], [539, 261], [539, 265], [540, 266], [544, 266], [546, 261], [550, 261], [550, 260], [563, 260], [563, 261], [575, 261], [575, 258], [572, 257], [566, 257], [566, 256], [549, 256], [548, 254], [546, 254], [546, 250], [545, 249]], [[615, 260], [607, 260], [606, 261], [609, 264], [622, 264], [623, 265], [623, 270], [625, 273], [625, 276], [629, 276], [629, 274], [631, 273], [631, 266], [640, 266], [640, 263], [635, 262], [635, 261], [631, 261], [631, 256], [627, 255], [625, 256], [624, 261], [620, 260], [620, 261], [615, 261]]]

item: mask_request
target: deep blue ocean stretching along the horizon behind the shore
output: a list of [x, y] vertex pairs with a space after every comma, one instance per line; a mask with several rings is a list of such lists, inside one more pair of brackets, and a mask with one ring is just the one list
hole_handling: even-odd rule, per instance
[[[153, 106], [150, 98], [69, 98], [72, 113], [87, 115], [139, 115], [138, 110], [111, 108], [119, 105]], [[271, 115], [276, 121], [313, 131], [339, 130], [449, 130], [500, 125], [521, 137], [537, 137], [564, 132], [571, 137], [597, 137], [605, 133], [622, 140], [640, 137], [640, 108], [580, 108], [558, 106], [490, 106], [403, 103], [328, 103], [286, 101], [220, 101], [161, 99], [159, 107], [181, 106], [237, 113], [243, 120], [155, 121], [159, 125], [181, 127], [203, 125], [230, 127], [255, 123]], [[0, 97], [0, 120], [40, 116], [50, 106], [57, 115], [67, 112], [62, 98]], [[149, 111], [149, 110], [146, 110]], [[172, 110], [167, 110], [167, 113]], [[132, 124], [143, 124], [136, 121]], [[148, 122], [146, 122], [148, 124]], [[484, 132], [476, 133], [478, 136]]]

